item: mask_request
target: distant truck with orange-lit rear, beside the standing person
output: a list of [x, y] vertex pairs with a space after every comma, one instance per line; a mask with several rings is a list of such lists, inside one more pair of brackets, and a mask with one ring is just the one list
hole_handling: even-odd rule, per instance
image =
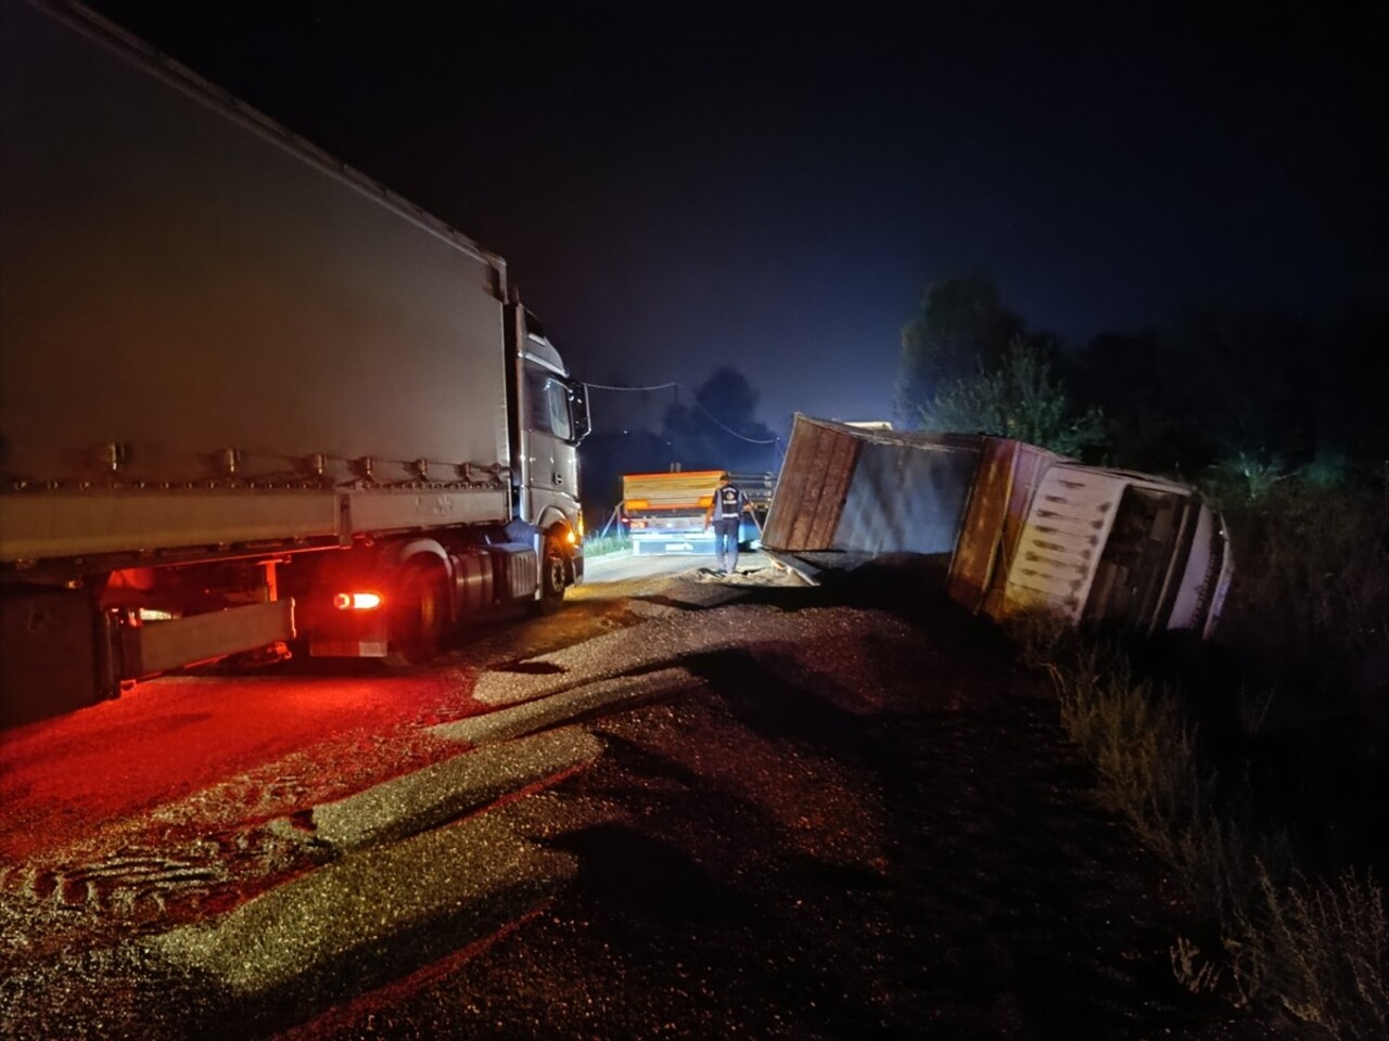
[[[633, 555], [714, 552], [714, 533], [704, 525], [720, 477], [726, 471], [669, 471], [622, 475], [622, 527], [632, 539]], [[761, 519], [771, 504], [775, 484], [770, 473], [731, 473], [753, 509], [745, 512], [739, 541], [751, 544], [760, 536]]]

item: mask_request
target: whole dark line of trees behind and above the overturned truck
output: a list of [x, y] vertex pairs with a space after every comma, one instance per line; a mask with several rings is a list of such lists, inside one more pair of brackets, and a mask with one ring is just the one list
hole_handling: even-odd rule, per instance
[[908, 428], [1022, 437], [1188, 479], [1231, 465], [1332, 477], [1389, 459], [1386, 387], [1389, 308], [1317, 322], [1190, 308], [1074, 348], [971, 276], [929, 286], [903, 328], [896, 409]]

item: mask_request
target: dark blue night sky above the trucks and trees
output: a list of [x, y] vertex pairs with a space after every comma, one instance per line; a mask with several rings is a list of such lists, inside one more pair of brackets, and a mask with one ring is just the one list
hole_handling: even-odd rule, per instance
[[93, 7], [503, 255], [579, 379], [733, 365], [778, 430], [889, 416], [951, 276], [1072, 346], [1389, 298], [1382, 0]]

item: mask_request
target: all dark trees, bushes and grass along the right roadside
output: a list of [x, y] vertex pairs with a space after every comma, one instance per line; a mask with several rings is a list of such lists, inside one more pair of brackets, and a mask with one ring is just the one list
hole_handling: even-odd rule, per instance
[[1386, 332], [1207, 312], [1068, 357], [981, 279], [933, 286], [903, 332], [910, 425], [1163, 473], [1221, 509], [1236, 577], [1208, 644], [1046, 618], [1014, 636], [1192, 909], [1176, 979], [1308, 1037], [1389, 1037]]

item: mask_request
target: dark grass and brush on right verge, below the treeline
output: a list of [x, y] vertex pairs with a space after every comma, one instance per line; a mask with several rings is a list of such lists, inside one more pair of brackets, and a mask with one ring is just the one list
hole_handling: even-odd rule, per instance
[[[1315, 511], [1317, 547], [1296, 551], [1326, 494], [1345, 512]], [[1286, 483], [1246, 507], [1231, 523], [1249, 532], [1249, 577], [1228, 632], [1188, 648], [1193, 661], [1035, 618], [1018, 622], [1020, 647], [1050, 675], [1100, 799], [1195, 912], [1171, 949], [1178, 980], [1313, 1037], [1383, 1037], [1383, 731], [1354, 711], [1350, 666], [1371, 661], [1375, 634], [1383, 645], [1389, 561], [1367, 561], [1356, 536], [1375, 526], [1368, 498]]]

